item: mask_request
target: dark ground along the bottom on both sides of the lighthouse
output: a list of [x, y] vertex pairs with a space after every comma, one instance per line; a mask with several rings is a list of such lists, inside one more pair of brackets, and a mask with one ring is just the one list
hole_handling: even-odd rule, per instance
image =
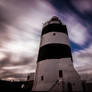
[[[33, 81], [0, 80], [0, 92], [32, 92]], [[83, 92], [92, 92], [92, 82], [82, 83]]]

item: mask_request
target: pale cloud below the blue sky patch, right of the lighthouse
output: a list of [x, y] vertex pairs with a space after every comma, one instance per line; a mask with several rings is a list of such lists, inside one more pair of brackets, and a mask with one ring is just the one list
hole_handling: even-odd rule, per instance
[[84, 50], [73, 52], [72, 55], [74, 66], [80, 75], [92, 76], [92, 44]]

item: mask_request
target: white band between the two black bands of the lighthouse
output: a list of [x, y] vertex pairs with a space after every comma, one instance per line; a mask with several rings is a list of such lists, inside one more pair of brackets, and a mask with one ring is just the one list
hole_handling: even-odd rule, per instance
[[[53, 35], [55, 34], [55, 35]], [[59, 43], [59, 44], [66, 44], [70, 46], [69, 39], [67, 34], [61, 33], [61, 32], [49, 32], [42, 36], [41, 38], [41, 46], [44, 46], [46, 44], [53, 44], [53, 43]]]

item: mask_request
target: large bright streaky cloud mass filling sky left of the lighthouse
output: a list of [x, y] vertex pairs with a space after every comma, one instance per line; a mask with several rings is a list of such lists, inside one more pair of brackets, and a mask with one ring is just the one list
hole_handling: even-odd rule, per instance
[[42, 26], [56, 14], [46, 0], [0, 0], [0, 78], [34, 72]]

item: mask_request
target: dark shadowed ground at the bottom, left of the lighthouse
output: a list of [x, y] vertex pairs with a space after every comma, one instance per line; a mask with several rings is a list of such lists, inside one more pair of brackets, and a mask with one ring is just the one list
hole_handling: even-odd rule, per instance
[[0, 92], [31, 92], [33, 81], [0, 80]]

